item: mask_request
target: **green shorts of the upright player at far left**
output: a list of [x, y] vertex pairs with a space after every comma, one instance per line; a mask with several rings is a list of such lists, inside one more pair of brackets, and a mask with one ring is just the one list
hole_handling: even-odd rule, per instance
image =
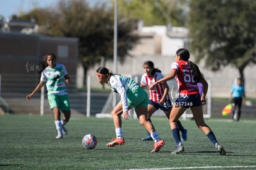
[[70, 111], [68, 95], [48, 95], [50, 109], [59, 108], [61, 111]]

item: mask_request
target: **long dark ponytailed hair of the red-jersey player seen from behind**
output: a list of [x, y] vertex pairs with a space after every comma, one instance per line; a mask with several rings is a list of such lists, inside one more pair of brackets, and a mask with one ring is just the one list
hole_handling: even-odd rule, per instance
[[195, 82], [200, 82], [203, 79], [203, 74], [200, 72], [199, 67], [192, 61], [189, 61], [189, 50], [185, 48], [178, 49], [176, 52], [177, 56], [180, 56], [183, 61], [187, 61], [192, 68], [193, 74], [195, 75]]

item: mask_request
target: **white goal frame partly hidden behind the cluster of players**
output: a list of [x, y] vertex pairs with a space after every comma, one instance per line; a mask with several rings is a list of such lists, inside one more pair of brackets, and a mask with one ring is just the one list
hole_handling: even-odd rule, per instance
[[[138, 77], [134, 77], [134, 80], [138, 82]], [[211, 117], [211, 79], [206, 79], [208, 82], [208, 91], [207, 91], [207, 104], [203, 105], [203, 117], [205, 118], [210, 118]], [[172, 82], [175, 83], [175, 82]], [[169, 83], [168, 83], [169, 84]], [[169, 91], [169, 95], [171, 91]], [[108, 100], [106, 100], [105, 105], [103, 106], [103, 109], [101, 111], [101, 113], [96, 114], [96, 117], [111, 117], [111, 111], [114, 108], [114, 103], [113, 103], [113, 98], [114, 95], [116, 95], [116, 93], [114, 93], [113, 91], [111, 91], [111, 93], [108, 96]], [[117, 95], [117, 102], [119, 102], [119, 95]], [[130, 109], [129, 114], [134, 117], [137, 118], [134, 109]], [[158, 111], [156, 111], [153, 116], [165, 116], [165, 114], [163, 113], [163, 111], [161, 111], [160, 109]], [[191, 112], [190, 109], [187, 109], [186, 112], [184, 114], [182, 114], [182, 119], [186, 120], [187, 118], [192, 118], [193, 114]]]

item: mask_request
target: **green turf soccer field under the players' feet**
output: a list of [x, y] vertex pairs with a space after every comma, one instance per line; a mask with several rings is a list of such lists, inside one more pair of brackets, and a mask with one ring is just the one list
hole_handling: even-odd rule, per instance
[[[207, 119], [228, 152], [221, 156], [195, 125], [183, 121], [188, 139], [185, 151], [171, 155], [176, 147], [166, 117], [153, 117], [153, 124], [165, 145], [150, 153], [153, 142], [143, 142], [147, 134], [138, 119], [123, 121], [125, 144], [106, 147], [115, 137], [111, 118], [73, 116], [66, 128], [69, 134], [56, 139], [53, 115], [0, 116], [0, 169], [256, 169], [256, 119]], [[82, 138], [93, 134], [98, 145], [82, 147]]]

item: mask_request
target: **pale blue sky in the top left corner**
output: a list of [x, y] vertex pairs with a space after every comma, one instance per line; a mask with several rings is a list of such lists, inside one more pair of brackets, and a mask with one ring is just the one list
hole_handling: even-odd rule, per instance
[[[90, 3], [95, 3], [97, 0], [87, 0]], [[98, 0], [106, 1], [106, 0]], [[4, 19], [11, 19], [11, 16], [20, 12], [28, 12], [35, 7], [50, 7], [57, 4], [59, 0], [2, 0], [0, 5], [0, 15]], [[93, 5], [93, 4], [92, 4]]]

